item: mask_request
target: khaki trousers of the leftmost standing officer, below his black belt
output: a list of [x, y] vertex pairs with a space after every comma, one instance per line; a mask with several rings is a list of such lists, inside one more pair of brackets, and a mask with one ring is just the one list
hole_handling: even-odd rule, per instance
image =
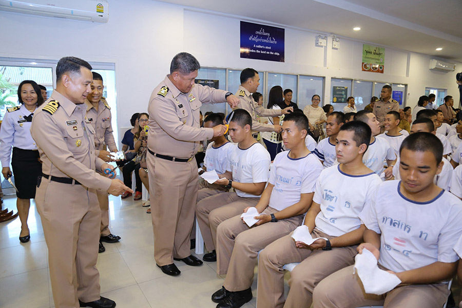
[[35, 204], [48, 247], [55, 307], [75, 308], [78, 299], [98, 300], [101, 210], [95, 190], [42, 178]]

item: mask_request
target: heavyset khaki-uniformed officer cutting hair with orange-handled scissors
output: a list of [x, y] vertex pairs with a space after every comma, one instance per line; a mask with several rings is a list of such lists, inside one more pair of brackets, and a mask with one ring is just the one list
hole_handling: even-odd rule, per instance
[[200, 141], [226, 131], [224, 125], [201, 128], [199, 108], [202, 103], [228, 102], [231, 107], [239, 103], [230, 92], [194, 84], [198, 69], [194, 56], [177, 54], [170, 74], [149, 99], [147, 167], [153, 196], [154, 258], [162, 272], [171, 276], [180, 274], [174, 259], [191, 266], [202, 264], [189, 249], [199, 187], [194, 155]]

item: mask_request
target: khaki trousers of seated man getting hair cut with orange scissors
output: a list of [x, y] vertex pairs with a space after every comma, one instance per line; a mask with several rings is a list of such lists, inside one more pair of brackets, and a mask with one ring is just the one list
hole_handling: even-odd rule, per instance
[[215, 249], [217, 227], [228, 218], [241, 215], [247, 206], [255, 206], [260, 198], [239, 197], [235, 191], [207, 197], [196, 205], [196, 217], [205, 249]]

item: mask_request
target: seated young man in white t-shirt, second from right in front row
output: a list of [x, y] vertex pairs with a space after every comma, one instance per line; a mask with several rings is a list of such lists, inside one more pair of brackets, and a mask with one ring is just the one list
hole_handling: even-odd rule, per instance
[[[339, 165], [322, 170], [305, 226], [311, 246], [287, 235], [266, 246], [258, 263], [258, 308], [310, 307], [315, 286], [324, 277], [354, 263], [364, 226], [359, 213], [370, 202], [380, 178], [362, 162], [371, 140], [371, 128], [362, 122], [345, 123], [336, 138]], [[291, 272], [291, 287], [284, 304], [282, 266], [301, 262]]]

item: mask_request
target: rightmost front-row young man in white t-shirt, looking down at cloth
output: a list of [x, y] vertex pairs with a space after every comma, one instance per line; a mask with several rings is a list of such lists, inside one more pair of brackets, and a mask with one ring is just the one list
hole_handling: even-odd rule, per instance
[[462, 202], [433, 183], [442, 149], [434, 134], [411, 134], [400, 148], [402, 181], [381, 183], [359, 214], [366, 229], [358, 252], [368, 249], [401, 283], [382, 295], [367, 294], [349, 266], [318, 284], [316, 308], [442, 307], [459, 259], [453, 247], [462, 233]]

